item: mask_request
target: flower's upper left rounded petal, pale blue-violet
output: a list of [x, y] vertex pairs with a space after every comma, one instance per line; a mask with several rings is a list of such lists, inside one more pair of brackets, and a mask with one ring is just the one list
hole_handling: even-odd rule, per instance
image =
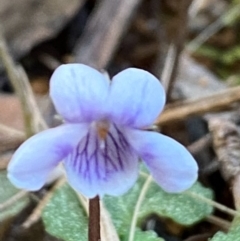
[[108, 90], [108, 79], [83, 64], [61, 65], [50, 80], [50, 96], [56, 110], [73, 123], [102, 118]]

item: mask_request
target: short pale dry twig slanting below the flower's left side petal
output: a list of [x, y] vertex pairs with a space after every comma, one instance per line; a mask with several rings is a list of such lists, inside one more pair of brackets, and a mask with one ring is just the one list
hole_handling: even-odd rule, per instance
[[40, 200], [36, 208], [33, 210], [31, 215], [25, 220], [25, 222], [22, 224], [22, 227], [27, 229], [30, 228], [34, 223], [36, 223], [42, 214], [42, 210], [46, 206], [46, 204], [49, 202], [51, 197], [53, 196], [54, 192], [61, 187], [66, 182], [65, 178], [60, 178], [55, 185], [51, 188], [51, 190], [43, 197], [43, 199]]

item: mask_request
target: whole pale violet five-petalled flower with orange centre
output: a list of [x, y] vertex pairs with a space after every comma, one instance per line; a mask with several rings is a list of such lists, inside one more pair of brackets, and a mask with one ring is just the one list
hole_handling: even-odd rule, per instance
[[9, 166], [11, 182], [38, 190], [62, 161], [70, 185], [93, 198], [121, 195], [138, 177], [141, 158], [167, 192], [181, 192], [197, 178], [197, 164], [175, 140], [145, 129], [165, 104], [150, 73], [129, 68], [110, 82], [83, 64], [66, 64], [50, 80], [50, 96], [65, 123], [24, 142]]

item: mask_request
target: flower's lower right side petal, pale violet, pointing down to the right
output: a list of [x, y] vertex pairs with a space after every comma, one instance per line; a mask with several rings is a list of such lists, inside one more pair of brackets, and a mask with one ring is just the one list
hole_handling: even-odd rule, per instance
[[182, 192], [196, 181], [198, 167], [187, 149], [159, 133], [128, 130], [127, 139], [167, 192]]

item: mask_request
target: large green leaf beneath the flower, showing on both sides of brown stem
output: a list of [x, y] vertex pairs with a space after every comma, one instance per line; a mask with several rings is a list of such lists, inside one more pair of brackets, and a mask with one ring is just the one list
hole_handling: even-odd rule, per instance
[[[190, 225], [212, 212], [212, 207], [201, 201], [185, 193], [167, 194], [152, 181], [143, 192], [147, 179], [146, 176], [141, 176], [134, 187], [123, 196], [104, 198], [105, 207], [112, 216], [121, 241], [163, 241], [153, 231], [144, 232], [139, 228], [142, 220], [151, 213]], [[212, 198], [212, 192], [199, 183], [190, 190]], [[65, 241], [87, 240], [87, 215], [69, 185], [65, 184], [55, 191], [42, 217], [46, 230], [52, 235]]]

